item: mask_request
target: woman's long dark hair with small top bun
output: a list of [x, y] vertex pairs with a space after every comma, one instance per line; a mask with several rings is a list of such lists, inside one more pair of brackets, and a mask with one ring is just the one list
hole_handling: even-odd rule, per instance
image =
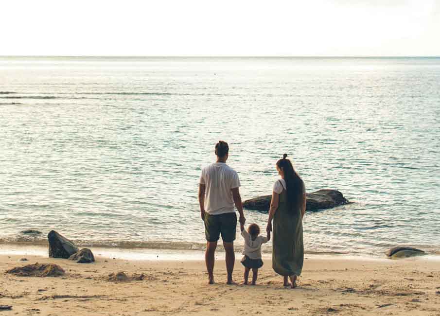
[[277, 161], [278, 168], [284, 172], [284, 181], [286, 182], [287, 203], [289, 211], [295, 212], [304, 202], [304, 182], [293, 169], [292, 163], [286, 159], [287, 154], [282, 155], [282, 159]]

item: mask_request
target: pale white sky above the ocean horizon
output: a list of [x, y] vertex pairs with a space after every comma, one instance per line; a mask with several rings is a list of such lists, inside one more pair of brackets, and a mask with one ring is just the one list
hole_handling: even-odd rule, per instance
[[440, 0], [2, 0], [0, 55], [440, 56]]

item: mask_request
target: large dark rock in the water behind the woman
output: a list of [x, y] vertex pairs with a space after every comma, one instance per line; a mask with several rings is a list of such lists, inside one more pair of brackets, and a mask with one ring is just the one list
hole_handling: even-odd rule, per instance
[[[307, 205], [306, 211], [318, 211], [334, 208], [338, 205], [350, 203], [337, 190], [322, 189], [313, 193], [306, 193]], [[272, 195], [264, 195], [243, 202], [243, 207], [249, 210], [269, 211]]]

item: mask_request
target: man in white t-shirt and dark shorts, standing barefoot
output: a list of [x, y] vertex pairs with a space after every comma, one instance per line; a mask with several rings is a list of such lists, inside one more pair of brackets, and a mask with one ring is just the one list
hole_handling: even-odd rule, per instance
[[229, 146], [226, 141], [220, 140], [215, 145], [215, 155], [217, 161], [202, 169], [198, 193], [200, 215], [205, 222], [207, 240], [206, 269], [209, 275], [208, 283], [213, 284], [214, 254], [221, 234], [226, 251], [227, 283], [232, 284], [232, 271], [235, 263], [234, 240], [237, 227], [234, 204], [240, 213], [240, 224], [245, 225], [246, 219], [243, 214], [238, 174], [226, 164], [229, 157]]

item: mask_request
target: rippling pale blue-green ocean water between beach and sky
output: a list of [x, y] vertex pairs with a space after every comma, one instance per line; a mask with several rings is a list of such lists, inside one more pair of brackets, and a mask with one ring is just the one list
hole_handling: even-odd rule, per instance
[[0, 240], [203, 249], [198, 177], [226, 140], [243, 200], [287, 153], [354, 202], [306, 214], [306, 252], [440, 253], [439, 138], [440, 58], [0, 57]]

